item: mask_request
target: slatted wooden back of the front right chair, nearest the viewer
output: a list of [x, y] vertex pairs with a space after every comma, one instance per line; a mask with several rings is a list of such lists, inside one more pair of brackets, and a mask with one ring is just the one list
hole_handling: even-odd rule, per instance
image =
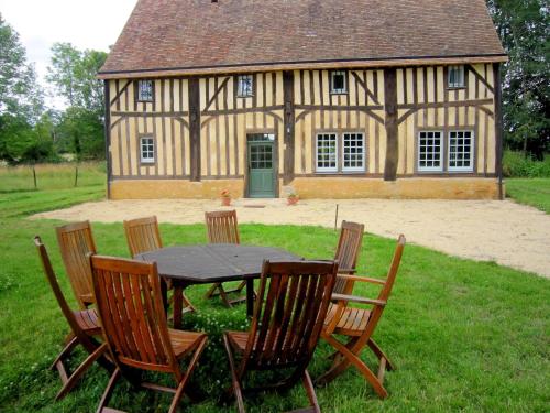
[[287, 366], [306, 369], [337, 272], [338, 262], [264, 262], [241, 373]]

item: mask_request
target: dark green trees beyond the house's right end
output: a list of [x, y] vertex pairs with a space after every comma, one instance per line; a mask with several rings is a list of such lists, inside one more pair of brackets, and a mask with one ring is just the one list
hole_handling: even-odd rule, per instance
[[505, 143], [541, 157], [550, 151], [548, 0], [487, 0], [509, 62], [504, 66]]

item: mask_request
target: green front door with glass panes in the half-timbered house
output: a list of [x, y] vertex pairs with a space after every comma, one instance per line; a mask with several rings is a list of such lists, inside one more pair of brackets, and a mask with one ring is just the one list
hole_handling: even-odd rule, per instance
[[249, 196], [251, 198], [275, 197], [274, 141], [273, 134], [248, 135]]

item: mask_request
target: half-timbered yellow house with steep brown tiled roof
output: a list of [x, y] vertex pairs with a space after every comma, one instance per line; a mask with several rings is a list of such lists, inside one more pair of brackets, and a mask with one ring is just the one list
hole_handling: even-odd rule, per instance
[[100, 70], [111, 198], [497, 198], [484, 0], [140, 0]]

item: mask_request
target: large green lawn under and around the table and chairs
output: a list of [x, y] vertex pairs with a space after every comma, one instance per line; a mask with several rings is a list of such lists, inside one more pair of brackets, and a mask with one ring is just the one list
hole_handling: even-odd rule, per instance
[[[59, 221], [29, 220], [32, 211], [102, 197], [101, 186], [0, 194], [0, 405], [2, 412], [92, 412], [107, 384], [94, 367], [66, 399], [47, 368], [68, 330], [40, 268], [32, 243], [41, 235], [48, 247], [62, 286], [74, 303], [56, 246]], [[144, 215], [152, 211], [144, 211]], [[206, 241], [202, 225], [162, 225], [166, 244]], [[128, 257], [121, 224], [94, 225], [101, 253]], [[331, 258], [338, 233], [319, 227], [241, 226], [243, 243], [285, 248], [308, 258]], [[394, 240], [366, 236], [360, 270], [385, 273]], [[182, 404], [193, 412], [223, 412], [217, 404], [229, 385], [228, 363], [220, 341], [227, 328], [246, 328], [245, 309], [227, 309], [205, 301], [208, 286], [189, 289], [198, 314], [186, 328], [201, 328], [209, 348], [194, 374], [206, 400]], [[374, 294], [358, 285], [355, 294]], [[496, 265], [474, 262], [409, 244], [386, 313], [375, 338], [398, 369], [386, 374], [389, 399], [378, 400], [350, 369], [317, 391], [326, 412], [546, 412], [550, 403], [550, 282]], [[328, 366], [330, 348], [321, 344], [310, 368], [314, 377]], [[81, 354], [80, 354], [81, 356]], [[372, 362], [370, 356], [364, 358]], [[133, 412], [166, 411], [169, 395], [132, 391], [120, 385], [116, 407]], [[287, 394], [246, 399], [250, 412], [280, 412], [307, 404], [300, 387]]]

